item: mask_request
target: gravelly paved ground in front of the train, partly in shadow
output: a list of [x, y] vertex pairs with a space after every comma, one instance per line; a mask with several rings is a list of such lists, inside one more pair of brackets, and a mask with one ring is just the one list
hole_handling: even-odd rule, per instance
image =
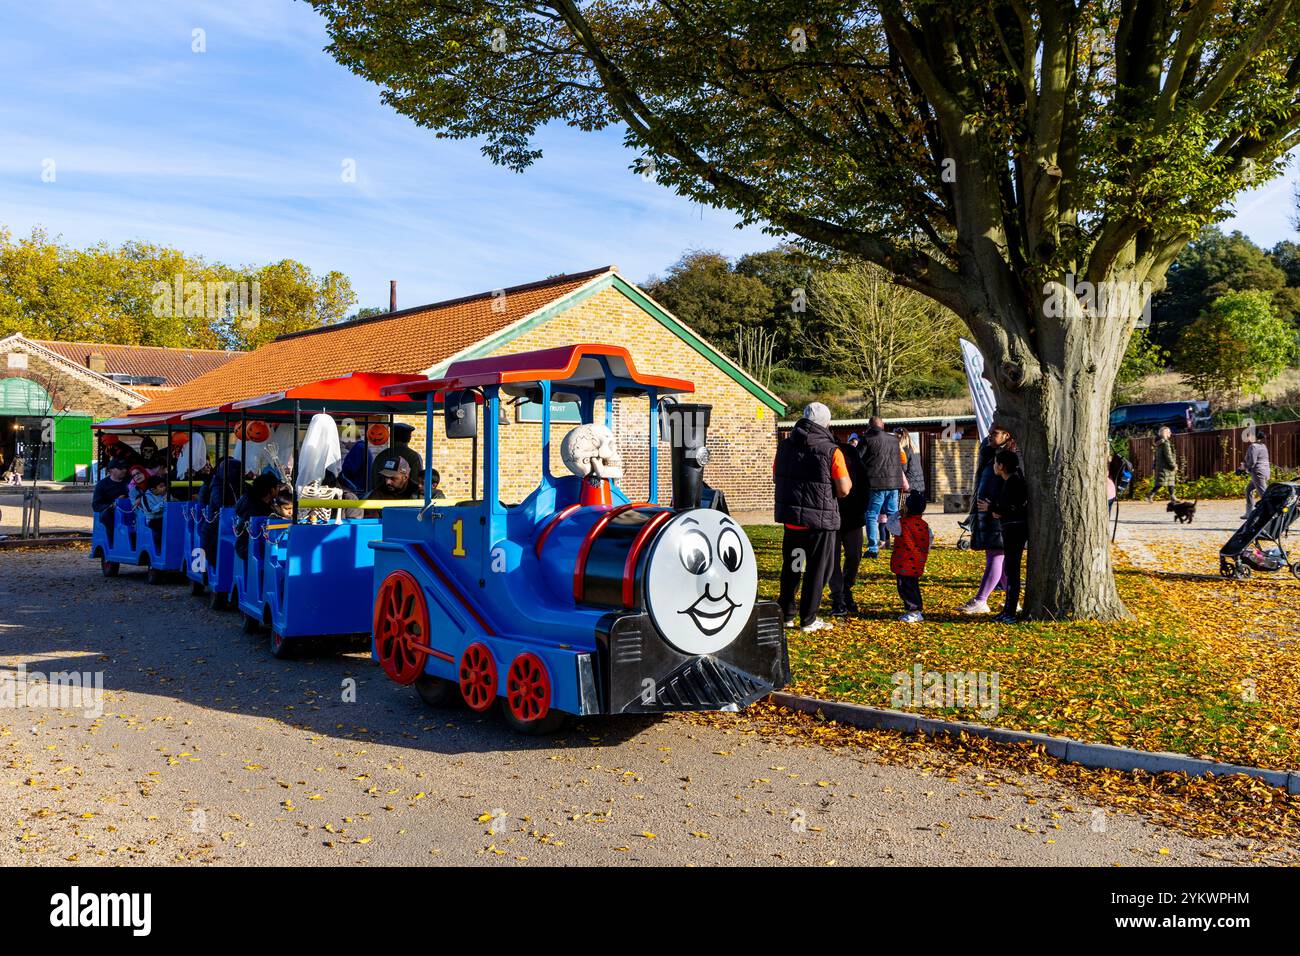
[[103, 671], [107, 689], [98, 718], [0, 710], [0, 865], [1248, 858], [1134, 816], [1095, 832], [1087, 800], [1043, 779], [950, 780], [727, 718], [516, 737], [425, 709], [363, 654], [280, 662], [264, 644], [84, 553], [0, 554], [0, 667]]

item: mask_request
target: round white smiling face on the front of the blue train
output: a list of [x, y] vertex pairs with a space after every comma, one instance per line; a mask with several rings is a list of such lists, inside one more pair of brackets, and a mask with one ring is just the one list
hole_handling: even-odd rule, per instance
[[754, 546], [722, 511], [684, 511], [655, 538], [645, 593], [650, 618], [672, 646], [716, 653], [745, 630], [758, 600]]

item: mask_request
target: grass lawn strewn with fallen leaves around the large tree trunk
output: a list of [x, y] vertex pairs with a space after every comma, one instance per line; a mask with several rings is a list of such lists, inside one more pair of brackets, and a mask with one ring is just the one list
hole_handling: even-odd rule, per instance
[[[746, 531], [758, 554], [759, 593], [775, 598], [780, 528]], [[918, 663], [923, 671], [996, 672], [996, 715], [920, 713], [1300, 769], [1300, 581], [1290, 575], [1238, 583], [1122, 567], [1131, 622], [1002, 626], [956, 613], [975, 592], [983, 554], [936, 548], [922, 579], [926, 620], [902, 624], [887, 555], [863, 561], [861, 617], [815, 635], [788, 631], [789, 691], [889, 708], [892, 675]], [[1201, 571], [1205, 562], [1193, 564]], [[1000, 602], [997, 593], [994, 610]]]

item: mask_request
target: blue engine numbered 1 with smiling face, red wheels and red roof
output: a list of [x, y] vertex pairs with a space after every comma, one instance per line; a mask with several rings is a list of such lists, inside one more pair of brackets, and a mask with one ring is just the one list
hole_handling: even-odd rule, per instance
[[[789, 678], [775, 602], [758, 600], [744, 529], [698, 507], [707, 406], [675, 403], [689, 381], [638, 372], [625, 349], [573, 345], [454, 363], [442, 378], [389, 395], [434, 399], [447, 441], [478, 436], [481, 494], [390, 510], [372, 542], [372, 653], [430, 704], [500, 709], [516, 730], [568, 715], [738, 709]], [[500, 497], [503, 403], [541, 407], [537, 486]], [[580, 424], [566, 436], [572, 473], [551, 473], [552, 401]], [[603, 425], [595, 421], [603, 406]], [[649, 486], [621, 486], [615, 408], [644, 403]], [[672, 436], [673, 498], [658, 498], [659, 424]], [[630, 437], [630, 436], [627, 436]], [[477, 444], [477, 442], [476, 442]]]

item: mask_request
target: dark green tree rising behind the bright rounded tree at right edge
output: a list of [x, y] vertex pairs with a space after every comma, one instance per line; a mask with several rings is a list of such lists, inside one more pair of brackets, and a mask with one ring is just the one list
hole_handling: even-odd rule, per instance
[[[1169, 267], [1167, 285], [1152, 303], [1152, 333], [1166, 349], [1225, 293], [1257, 289], [1286, 321], [1300, 317], [1300, 268], [1294, 243], [1278, 243], [1273, 254], [1240, 232], [1208, 228]], [[1290, 272], [1288, 272], [1290, 269]], [[1295, 278], [1292, 278], [1295, 276]]]

